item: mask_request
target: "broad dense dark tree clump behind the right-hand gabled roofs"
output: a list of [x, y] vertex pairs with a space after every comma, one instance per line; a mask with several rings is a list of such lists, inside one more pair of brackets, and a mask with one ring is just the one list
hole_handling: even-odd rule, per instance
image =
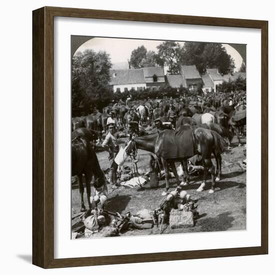
[[221, 74], [233, 72], [232, 57], [221, 43], [185, 42], [181, 55], [184, 65], [195, 65], [200, 74], [207, 68], [218, 68]]

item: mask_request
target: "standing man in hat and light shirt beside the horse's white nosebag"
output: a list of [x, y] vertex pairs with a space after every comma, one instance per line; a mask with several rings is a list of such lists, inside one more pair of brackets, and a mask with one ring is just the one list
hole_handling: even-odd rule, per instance
[[117, 138], [114, 136], [114, 123], [107, 123], [108, 133], [103, 140], [102, 144], [99, 144], [97, 147], [101, 147], [104, 150], [109, 152], [109, 161], [110, 161], [110, 172], [109, 172], [109, 182], [112, 184], [112, 189], [119, 186], [116, 183], [116, 171], [118, 168], [117, 163], [114, 161], [115, 156], [119, 151], [119, 144]]

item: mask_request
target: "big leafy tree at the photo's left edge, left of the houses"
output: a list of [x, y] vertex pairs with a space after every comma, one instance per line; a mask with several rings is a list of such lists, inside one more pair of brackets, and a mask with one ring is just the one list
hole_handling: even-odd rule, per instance
[[[110, 56], [105, 51], [86, 49], [72, 57], [72, 115], [88, 113], [96, 100], [109, 97]], [[99, 102], [98, 101], [98, 102]]]

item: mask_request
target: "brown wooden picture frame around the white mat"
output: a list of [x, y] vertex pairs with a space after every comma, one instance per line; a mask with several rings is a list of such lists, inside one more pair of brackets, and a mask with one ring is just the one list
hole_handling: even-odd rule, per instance
[[[58, 258], [53, 207], [53, 18], [54, 16], [257, 28], [261, 30], [261, 245], [194, 251]], [[262, 20], [42, 7], [32, 13], [32, 262], [43, 268], [268, 253], [268, 22]]]

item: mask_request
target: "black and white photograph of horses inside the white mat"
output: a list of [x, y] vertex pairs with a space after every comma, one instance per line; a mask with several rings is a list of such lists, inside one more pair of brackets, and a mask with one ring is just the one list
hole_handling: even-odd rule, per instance
[[71, 238], [246, 230], [246, 44], [71, 49]]

